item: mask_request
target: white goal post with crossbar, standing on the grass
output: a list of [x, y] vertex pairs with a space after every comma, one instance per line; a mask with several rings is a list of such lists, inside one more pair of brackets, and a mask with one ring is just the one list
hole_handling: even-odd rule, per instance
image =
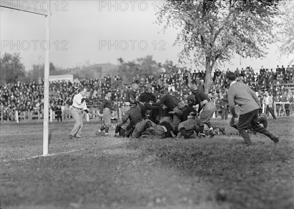
[[[20, 5], [20, 1], [16, 4], [12, 0], [0, 0], [0, 7], [5, 7], [9, 9], [20, 10], [24, 12], [30, 12], [38, 15], [45, 16], [45, 39], [47, 43], [50, 43], [50, 16], [51, 16], [51, 0], [47, 0], [49, 3], [49, 8], [47, 11], [42, 9], [31, 7], [30, 5], [23, 4]], [[43, 120], [43, 156], [48, 154], [49, 145], [49, 50], [50, 46], [45, 49], [45, 68], [44, 68], [44, 120]], [[48, 86], [46, 86], [48, 85]]]

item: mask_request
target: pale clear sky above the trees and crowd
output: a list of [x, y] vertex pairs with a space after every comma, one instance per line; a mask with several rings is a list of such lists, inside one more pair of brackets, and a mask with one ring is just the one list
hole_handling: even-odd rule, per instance
[[[157, 6], [163, 4], [162, 0], [51, 0], [49, 46], [45, 40], [44, 16], [0, 7], [0, 54], [20, 53], [26, 70], [30, 70], [32, 64], [44, 63], [47, 47], [50, 62], [64, 69], [86, 64], [118, 64], [118, 58], [132, 61], [147, 55], [152, 55], [156, 62], [171, 60], [183, 66], [178, 63], [182, 46], [174, 45], [179, 31], [168, 28], [163, 32], [164, 25], [155, 22]], [[47, 2], [42, 0], [25, 3], [14, 0], [13, 5], [24, 9], [36, 5], [43, 11], [48, 10]], [[269, 47], [265, 49], [266, 58], [241, 59], [236, 55], [220, 69], [275, 68], [287, 66], [293, 59], [286, 56], [279, 59], [276, 44]], [[185, 66], [196, 69], [194, 63]]]

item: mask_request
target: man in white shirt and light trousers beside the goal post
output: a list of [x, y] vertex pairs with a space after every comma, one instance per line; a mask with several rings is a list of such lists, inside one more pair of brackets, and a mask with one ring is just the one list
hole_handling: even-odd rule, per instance
[[88, 113], [90, 117], [92, 117], [92, 114], [87, 109], [87, 104], [85, 101], [85, 96], [87, 95], [87, 89], [84, 88], [82, 91], [80, 91], [78, 94], [74, 95], [73, 97], [73, 106], [71, 109], [71, 115], [73, 117], [73, 120], [75, 121], [75, 124], [73, 126], [73, 129], [70, 132], [70, 138], [81, 138], [81, 131], [83, 127], [83, 119], [82, 119], [82, 113], [85, 111]]

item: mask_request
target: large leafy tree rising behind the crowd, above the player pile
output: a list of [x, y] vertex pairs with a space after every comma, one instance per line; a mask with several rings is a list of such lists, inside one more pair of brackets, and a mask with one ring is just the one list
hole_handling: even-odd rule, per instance
[[175, 43], [184, 46], [179, 60], [204, 65], [208, 85], [213, 67], [236, 53], [243, 58], [266, 55], [277, 5], [278, 0], [168, 0], [157, 22], [164, 23], [164, 29], [179, 28]]

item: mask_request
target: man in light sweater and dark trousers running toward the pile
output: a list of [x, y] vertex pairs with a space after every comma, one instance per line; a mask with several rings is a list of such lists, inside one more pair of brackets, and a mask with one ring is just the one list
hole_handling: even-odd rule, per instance
[[260, 101], [255, 92], [246, 84], [236, 82], [236, 76], [233, 72], [226, 74], [230, 87], [228, 89], [228, 102], [234, 120], [238, 120], [235, 111], [235, 103], [240, 106], [240, 116], [238, 122], [238, 131], [248, 144], [251, 145], [250, 137], [247, 133], [248, 126], [251, 125], [253, 131], [268, 136], [274, 143], [278, 143], [279, 139], [263, 126], [258, 124], [259, 109], [262, 109]]

